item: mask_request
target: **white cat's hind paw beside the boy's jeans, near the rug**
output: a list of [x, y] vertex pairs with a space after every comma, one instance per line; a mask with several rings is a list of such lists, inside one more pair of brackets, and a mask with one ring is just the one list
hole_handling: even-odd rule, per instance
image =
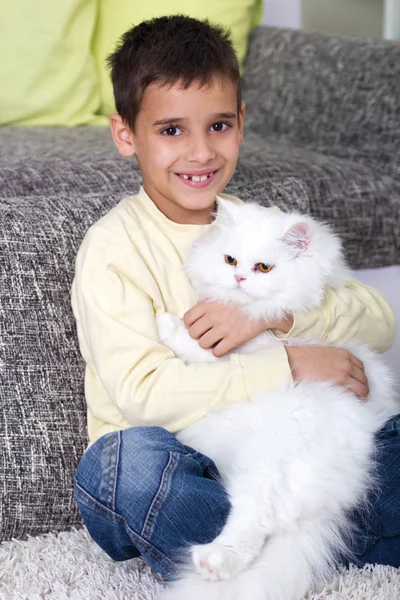
[[242, 570], [239, 554], [216, 542], [193, 546], [192, 559], [196, 572], [208, 581], [231, 579]]

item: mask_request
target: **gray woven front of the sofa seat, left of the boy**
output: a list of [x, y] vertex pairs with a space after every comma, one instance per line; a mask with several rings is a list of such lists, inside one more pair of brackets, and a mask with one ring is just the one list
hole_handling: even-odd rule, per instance
[[1, 538], [80, 522], [73, 477], [87, 445], [70, 287], [87, 228], [119, 195], [0, 199]]

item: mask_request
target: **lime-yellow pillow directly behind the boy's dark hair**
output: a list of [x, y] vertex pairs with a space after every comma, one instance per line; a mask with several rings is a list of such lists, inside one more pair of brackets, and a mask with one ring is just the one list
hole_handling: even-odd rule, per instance
[[248, 37], [261, 20], [262, 0], [100, 0], [93, 48], [100, 79], [101, 114], [110, 115], [115, 111], [105, 60], [118, 39], [133, 25], [174, 14], [209, 19], [228, 27], [242, 66]]

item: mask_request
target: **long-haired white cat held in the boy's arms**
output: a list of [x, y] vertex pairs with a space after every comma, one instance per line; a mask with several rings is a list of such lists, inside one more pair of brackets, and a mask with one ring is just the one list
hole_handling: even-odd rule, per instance
[[[222, 199], [185, 268], [199, 299], [267, 320], [318, 306], [327, 286], [350, 278], [326, 225]], [[160, 340], [186, 362], [223, 360], [202, 349], [178, 317], [160, 314], [157, 326]], [[265, 333], [235, 352], [277, 343]], [[215, 461], [232, 509], [213, 542], [190, 548], [191, 563], [163, 599], [300, 600], [346, 551], [347, 513], [373, 485], [374, 434], [399, 406], [379, 356], [355, 343], [338, 346], [363, 361], [368, 402], [333, 383], [302, 382], [211, 412], [178, 434]]]

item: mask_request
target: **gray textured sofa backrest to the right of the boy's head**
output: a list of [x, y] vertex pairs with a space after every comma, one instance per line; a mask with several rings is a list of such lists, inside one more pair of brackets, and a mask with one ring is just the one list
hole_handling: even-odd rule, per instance
[[400, 172], [400, 43], [259, 27], [247, 130]]

